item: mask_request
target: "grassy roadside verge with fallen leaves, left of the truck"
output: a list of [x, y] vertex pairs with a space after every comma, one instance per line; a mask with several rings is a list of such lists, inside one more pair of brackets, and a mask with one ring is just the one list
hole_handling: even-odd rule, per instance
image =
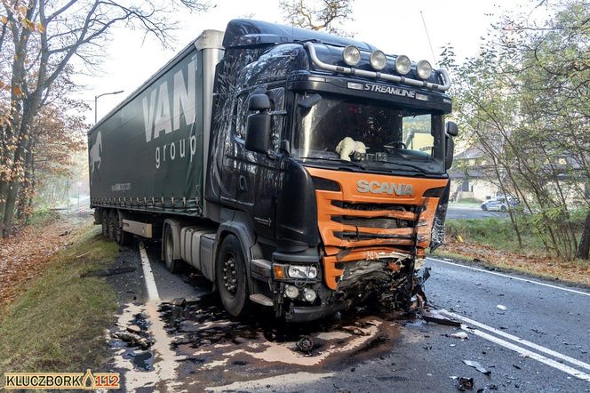
[[87, 225], [16, 301], [0, 310], [0, 374], [74, 373], [104, 364], [104, 330], [116, 311], [116, 293], [104, 278], [80, 275], [105, 269], [116, 253], [116, 243]]

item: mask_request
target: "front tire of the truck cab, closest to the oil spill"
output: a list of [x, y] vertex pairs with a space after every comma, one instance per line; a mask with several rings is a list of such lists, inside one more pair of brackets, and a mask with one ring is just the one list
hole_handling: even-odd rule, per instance
[[234, 235], [227, 235], [219, 247], [215, 281], [227, 312], [234, 317], [245, 316], [251, 307], [250, 291], [242, 245]]

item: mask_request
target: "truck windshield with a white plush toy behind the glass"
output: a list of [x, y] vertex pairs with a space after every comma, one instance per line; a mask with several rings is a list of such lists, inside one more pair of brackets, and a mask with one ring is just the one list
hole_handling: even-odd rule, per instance
[[312, 108], [299, 107], [291, 155], [341, 163], [351, 148], [362, 152], [364, 147], [364, 155], [348, 156], [352, 163], [442, 172], [441, 165], [435, 164], [435, 158], [442, 158], [435, 153], [440, 151], [435, 148], [439, 139], [433, 136], [442, 124], [442, 115], [425, 110], [322, 93], [322, 100]]

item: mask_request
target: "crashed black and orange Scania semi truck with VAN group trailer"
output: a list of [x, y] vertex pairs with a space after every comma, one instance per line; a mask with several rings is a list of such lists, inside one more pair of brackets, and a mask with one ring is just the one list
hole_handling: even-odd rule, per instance
[[426, 60], [257, 20], [205, 30], [88, 133], [95, 223], [161, 242], [227, 312], [407, 309], [442, 244], [457, 124]]

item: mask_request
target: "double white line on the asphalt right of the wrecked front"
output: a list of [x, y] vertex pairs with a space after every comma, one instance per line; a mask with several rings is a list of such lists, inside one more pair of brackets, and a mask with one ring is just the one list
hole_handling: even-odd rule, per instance
[[[495, 329], [491, 326], [484, 325], [480, 322], [474, 321], [473, 319], [463, 317], [461, 315], [455, 314], [454, 312], [447, 311], [446, 309], [442, 309], [441, 312], [443, 314], [448, 315], [449, 317], [454, 317], [454, 318], [457, 318], [459, 320], [466, 322], [468, 325], [461, 324], [461, 329], [465, 330], [466, 332], [475, 334], [479, 337], [482, 337], [482, 339], [485, 339], [487, 341], [491, 341], [495, 344], [501, 345], [504, 348], [514, 350], [514, 352], [518, 352], [519, 354], [530, 357], [531, 359], [535, 359], [538, 362], [541, 362], [545, 365], [549, 365], [551, 367], [554, 367], [555, 369], [560, 370], [563, 373], [569, 373], [570, 375], [572, 375], [576, 378], [579, 378], [580, 380], [590, 382], [590, 374], [588, 374], [588, 373], [581, 372], [576, 368], [570, 367], [569, 365], [563, 365], [562, 363], [559, 363], [559, 362], [555, 361], [554, 359], [544, 357], [543, 355], [539, 355], [537, 352], [533, 352], [529, 349], [522, 348], [512, 342], [502, 340], [502, 339], [500, 339], [496, 336], [493, 336], [489, 333], [485, 333], [485, 332], [482, 332], [481, 330], [474, 329], [473, 326], [478, 326], [478, 327], [488, 330], [490, 332], [497, 333], [497, 334], [502, 335], [506, 338], [509, 338], [510, 340], [516, 339], [514, 341], [520, 342], [523, 345], [527, 345], [530, 348], [538, 349], [539, 351], [545, 352], [546, 354], [554, 356], [554, 357], [558, 357], [558, 358], [560, 358], [564, 361], [567, 361], [571, 364], [574, 364], [574, 365], [580, 365], [584, 368], [589, 368], [590, 365], [588, 365], [587, 363], [579, 361], [578, 359], [574, 359], [573, 357], [568, 357], [566, 355], [562, 355], [561, 353], [555, 352], [554, 350], [546, 349], [545, 347], [534, 344], [530, 341], [522, 340], [522, 339], [520, 339], [516, 336], [513, 336], [511, 334], [498, 331], [498, 329]], [[513, 337], [514, 337], [514, 339], [513, 339]]]

